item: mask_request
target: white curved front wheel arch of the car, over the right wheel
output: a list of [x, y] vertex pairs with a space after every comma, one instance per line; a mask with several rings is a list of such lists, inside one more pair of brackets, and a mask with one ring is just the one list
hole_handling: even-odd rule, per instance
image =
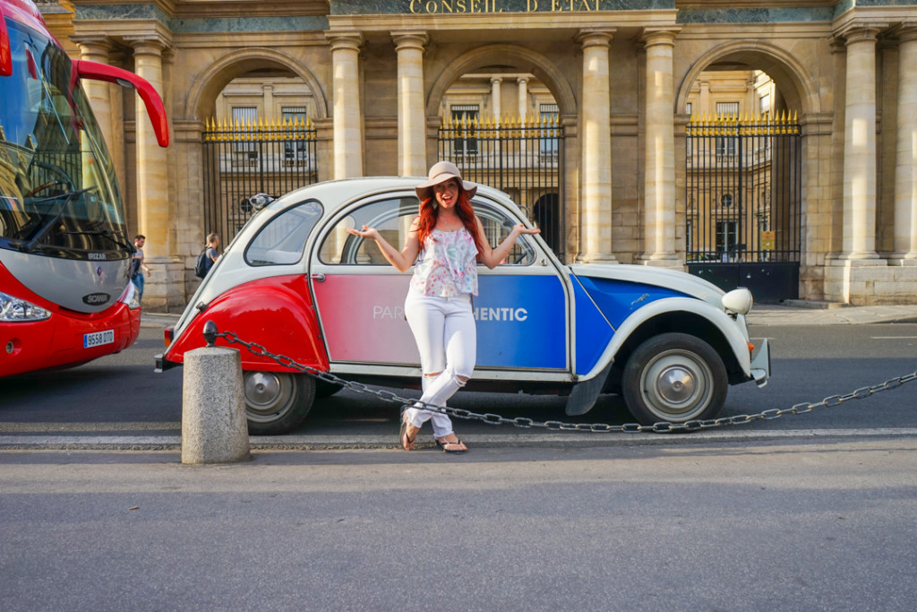
[[[647, 304], [636, 310], [630, 317], [625, 318], [614, 330], [614, 335], [608, 346], [602, 351], [599, 361], [588, 374], [580, 378], [580, 381], [590, 380], [606, 371], [627, 340], [641, 333], [641, 330], [646, 333], [660, 321], [677, 320], [679, 317], [706, 321], [709, 325], [703, 327], [713, 330], [714, 336], [711, 337], [711, 331], [699, 328], [667, 328], [666, 330], [680, 331], [706, 340], [721, 353], [720, 356], [727, 370], [738, 370], [744, 374], [745, 380], [751, 379], [751, 354], [748, 350], [748, 339], [740, 323], [727, 316], [722, 310], [702, 300], [691, 297], [668, 297]], [[719, 338], [715, 337], [715, 334], [718, 334]], [[649, 332], [648, 335], [653, 336], [656, 333]], [[724, 347], [728, 347], [731, 354], [723, 354]]]

